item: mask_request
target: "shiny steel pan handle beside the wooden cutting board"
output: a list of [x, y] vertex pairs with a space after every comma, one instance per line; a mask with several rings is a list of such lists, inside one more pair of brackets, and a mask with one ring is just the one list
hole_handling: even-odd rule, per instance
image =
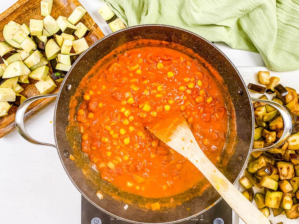
[[37, 96], [33, 96], [30, 97], [28, 99], [26, 99], [18, 108], [17, 112], [16, 112], [16, 128], [19, 132], [19, 134], [26, 139], [28, 142], [31, 142], [32, 144], [35, 145], [48, 145], [48, 146], [52, 146], [54, 148], [56, 148], [55, 145], [50, 144], [50, 143], [45, 143], [45, 142], [39, 142], [35, 139], [33, 139], [28, 132], [26, 131], [25, 125], [24, 125], [24, 115], [25, 115], [25, 111], [26, 109], [29, 107], [29, 105], [31, 103], [33, 103], [34, 101], [38, 100], [38, 99], [43, 99], [43, 98], [50, 98], [50, 97], [56, 97], [58, 93], [54, 93], [54, 94], [45, 94], [45, 95], [37, 95]]

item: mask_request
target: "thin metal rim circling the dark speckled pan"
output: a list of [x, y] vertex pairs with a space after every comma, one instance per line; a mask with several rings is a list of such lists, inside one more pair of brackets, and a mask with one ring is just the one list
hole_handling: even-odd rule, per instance
[[[106, 214], [109, 214], [113, 217], [116, 217], [120, 220], [123, 220], [123, 221], [126, 221], [126, 222], [129, 222], [129, 223], [136, 223], [136, 224], [173, 224], [173, 223], [179, 223], [179, 222], [182, 222], [182, 221], [186, 221], [186, 220], [189, 220], [193, 217], [196, 217], [202, 213], [204, 213], [205, 211], [207, 211], [208, 209], [212, 208], [214, 205], [216, 205], [220, 200], [222, 200], [222, 197], [220, 196], [218, 200], [216, 200], [212, 205], [208, 206], [207, 208], [203, 209], [202, 211], [194, 214], [194, 215], [191, 215], [191, 216], [188, 216], [188, 217], [185, 217], [183, 219], [179, 219], [179, 220], [174, 220], [174, 221], [170, 221], [170, 222], [162, 222], [162, 223], [147, 223], [147, 222], [138, 222], [138, 221], [134, 221], [134, 220], [128, 220], [128, 219], [125, 219], [125, 218], [122, 218], [120, 216], [117, 216], [115, 214], [112, 214], [110, 213], [109, 211], [106, 211], [105, 209], [101, 208], [100, 206], [98, 206], [97, 204], [95, 204], [92, 200], [89, 199], [88, 196], [86, 196], [86, 194], [83, 193], [83, 191], [77, 186], [77, 184], [74, 182], [74, 180], [72, 179], [71, 175], [69, 174], [67, 168], [65, 167], [65, 164], [62, 160], [62, 155], [60, 154], [60, 151], [59, 151], [59, 148], [58, 148], [58, 143], [57, 143], [57, 135], [56, 135], [56, 115], [57, 115], [57, 105], [58, 105], [58, 101], [59, 101], [59, 98], [60, 98], [60, 93], [62, 91], [63, 88], [65, 88], [65, 82], [68, 78], [68, 75], [69, 73], [71, 73], [71, 71], [73, 70], [73, 68], [77, 65], [77, 63], [80, 61], [80, 59], [91, 49], [93, 48], [95, 45], [97, 45], [98, 43], [102, 42], [103, 40], [109, 38], [110, 36], [112, 35], [115, 35], [117, 33], [121, 33], [123, 31], [126, 31], [126, 30], [131, 30], [131, 29], [134, 29], [134, 28], [139, 28], [139, 27], [167, 27], [167, 28], [172, 28], [172, 29], [177, 29], [177, 30], [181, 30], [181, 31], [184, 31], [184, 32], [187, 32], [187, 33], [190, 33], [194, 36], [196, 36], [197, 38], [199, 39], [202, 39], [204, 40], [205, 42], [209, 43], [213, 48], [215, 48], [219, 53], [222, 54], [222, 56], [225, 57], [225, 59], [230, 63], [230, 65], [234, 68], [235, 72], [237, 73], [237, 75], [239, 76], [239, 79], [240, 81], [242, 82], [243, 86], [246, 87], [245, 85], [245, 82], [244, 80], [242, 79], [242, 76], [240, 75], [239, 71], [237, 70], [236, 66], [231, 62], [231, 60], [218, 48], [216, 47], [216, 45], [213, 44], [213, 42], [210, 42], [208, 41], [207, 39], [203, 38], [202, 36], [199, 36], [198, 34], [196, 33], [193, 33], [189, 30], [185, 30], [185, 29], [182, 29], [180, 27], [176, 27], [176, 26], [170, 26], [170, 25], [164, 25], [164, 24], [144, 24], [144, 25], [136, 25], [136, 26], [131, 26], [131, 27], [127, 27], [125, 29], [122, 29], [122, 30], [118, 30], [116, 32], [113, 32], [113, 33], [110, 33], [109, 35], [107, 36], [104, 36], [103, 38], [99, 39], [97, 42], [93, 43], [84, 53], [82, 53], [79, 58], [76, 60], [76, 62], [74, 62], [74, 64], [71, 66], [71, 69], [68, 71], [67, 75], [65, 76], [65, 79], [63, 80], [61, 86], [60, 86], [60, 89], [58, 91], [58, 95], [57, 95], [57, 98], [56, 98], [56, 101], [55, 101], [55, 108], [54, 108], [54, 119], [53, 119], [53, 128], [54, 128], [54, 139], [55, 139], [55, 145], [56, 145], [56, 149], [57, 149], [57, 153], [59, 155], [59, 158], [60, 158], [60, 162], [62, 163], [62, 166], [67, 174], [67, 176], [69, 177], [69, 179], [71, 180], [71, 182], [74, 184], [74, 186], [77, 188], [77, 190], [80, 192], [80, 194], [87, 200], [89, 201], [92, 205], [94, 205], [96, 208], [100, 209], [101, 211], [105, 212]], [[245, 93], [246, 93], [246, 96], [248, 97], [248, 100], [251, 101], [250, 99], [250, 94], [249, 94], [249, 90], [247, 88], [244, 88], [245, 89]], [[243, 90], [243, 93], [244, 93], [244, 90]], [[254, 110], [253, 110], [253, 105], [250, 104], [250, 109], [251, 109], [251, 118], [252, 118], [252, 130], [251, 130], [251, 142], [250, 142], [250, 148], [248, 150], [248, 154], [244, 160], [244, 163], [243, 163], [243, 166], [242, 166], [242, 169], [240, 170], [238, 176], [236, 177], [236, 179], [234, 180], [233, 184], [235, 185], [237, 182], [238, 182], [238, 179], [240, 178], [241, 174], [243, 173], [246, 165], [247, 165], [247, 162], [248, 162], [248, 159], [249, 159], [249, 156], [250, 156], [250, 152], [251, 152], [251, 148], [252, 148], [252, 145], [253, 145], [253, 136], [254, 136]]]

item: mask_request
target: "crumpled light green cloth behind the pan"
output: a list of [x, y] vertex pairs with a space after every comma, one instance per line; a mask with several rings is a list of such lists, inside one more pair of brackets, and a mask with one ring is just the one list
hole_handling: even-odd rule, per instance
[[127, 26], [168, 24], [259, 52], [274, 71], [299, 69], [299, 0], [101, 0]]

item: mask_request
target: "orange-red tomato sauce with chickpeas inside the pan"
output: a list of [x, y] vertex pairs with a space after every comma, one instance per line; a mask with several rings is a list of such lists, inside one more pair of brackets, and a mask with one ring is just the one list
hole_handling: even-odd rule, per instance
[[76, 114], [82, 151], [102, 179], [142, 197], [180, 194], [203, 175], [145, 125], [181, 111], [217, 164], [228, 134], [225, 99], [197, 59], [167, 47], [139, 47], [95, 66]]

